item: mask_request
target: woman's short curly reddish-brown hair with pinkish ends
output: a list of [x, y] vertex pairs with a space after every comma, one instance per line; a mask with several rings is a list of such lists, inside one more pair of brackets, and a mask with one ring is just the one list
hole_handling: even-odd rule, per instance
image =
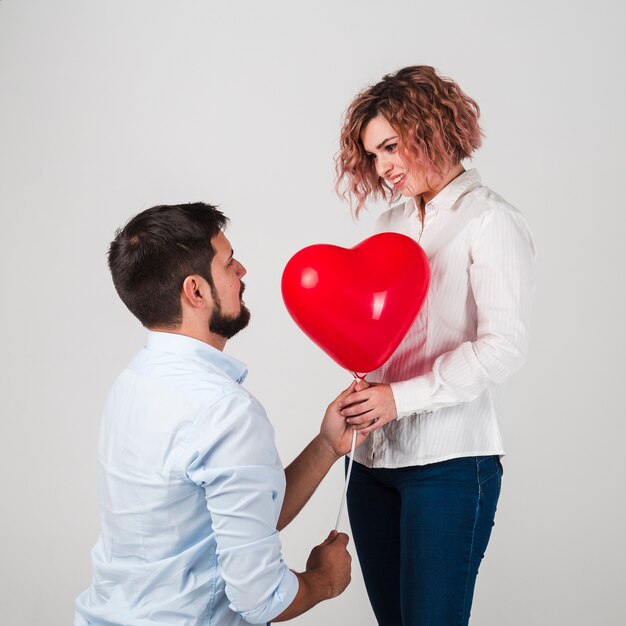
[[355, 214], [369, 196], [390, 203], [397, 194], [378, 176], [361, 132], [382, 115], [400, 137], [401, 155], [411, 169], [441, 180], [443, 174], [480, 146], [480, 108], [451, 79], [433, 67], [405, 67], [361, 91], [346, 111], [335, 157], [337, 192], [356, 201]]

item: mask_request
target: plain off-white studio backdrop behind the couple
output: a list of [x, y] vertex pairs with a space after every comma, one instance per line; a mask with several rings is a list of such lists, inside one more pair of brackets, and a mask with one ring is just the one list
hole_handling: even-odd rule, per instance
[[[100, 410], [144, 341], [107, 272], [114, 230], [158, 203], [231, 217], [253, 320], [227, 349], [288, 463], [350, 377], [288, 317], [282, 268], [371, 233], [380, 207], [355, 224], [332, 192], [341, 116], [411, 64], [479, 102], [474, 165], [540, 252], [472, 623], [624, 623], [624, 9], [591, 6], [0, 0], [2, 624], [70, 624], [89, 583]], [[291, 567], [332, 527], [341, 488], [337, 464], [284, 532]], [[356, 560], [346, 593], [294, 622], [374, 624]]]

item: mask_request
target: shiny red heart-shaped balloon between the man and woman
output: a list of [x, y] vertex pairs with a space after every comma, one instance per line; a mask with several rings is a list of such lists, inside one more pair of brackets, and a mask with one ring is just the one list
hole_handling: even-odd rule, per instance
[[296, 324], [339, 365], [366, 374], [394, 352], [430, 282], [413, 239], [380, 233], [354, 248], [308, 246], [287, 263], [285, 306]]

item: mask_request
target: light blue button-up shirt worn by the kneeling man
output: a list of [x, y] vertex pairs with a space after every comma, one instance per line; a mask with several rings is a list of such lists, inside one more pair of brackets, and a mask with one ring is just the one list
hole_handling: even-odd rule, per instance
[[204, 342], [150, 332], [119, 376], [75, 626], [261, 624], [291, 604], [298, 580], [276, 530], [285, 473], [246, 374]]

